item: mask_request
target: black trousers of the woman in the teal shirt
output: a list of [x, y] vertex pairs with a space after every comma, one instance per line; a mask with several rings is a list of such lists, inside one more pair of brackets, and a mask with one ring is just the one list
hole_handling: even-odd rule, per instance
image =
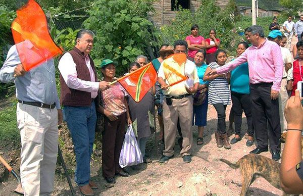
[[242, 94], [231, 91], [232, 112], [234, 114], [235, 131], [237, 135], [241, 133], [242, 125], [242, 111], [244, 110], [247, 120], [247, 132], [249, 136], [254, 136], [252, 129], [252, 114], [251, 114], [251, 101], [249, 94]]

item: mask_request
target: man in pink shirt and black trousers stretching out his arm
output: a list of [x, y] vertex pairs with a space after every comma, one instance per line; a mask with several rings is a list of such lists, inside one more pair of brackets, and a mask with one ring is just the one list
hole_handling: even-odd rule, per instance
[[258, 142], [258, 147], [250, 153], [267, 152], [269, 137], [272, 159], [278, 161], [281, 149], [278, 102], [283, 74], [281, 50], [277, 43], [264, 38], [261, 26], [251, 26], [247, 32], [252, 45], [240, 57], [225, 66], [211, 70], [209, 74], [223, 74], [248, 62], [252, 118]]

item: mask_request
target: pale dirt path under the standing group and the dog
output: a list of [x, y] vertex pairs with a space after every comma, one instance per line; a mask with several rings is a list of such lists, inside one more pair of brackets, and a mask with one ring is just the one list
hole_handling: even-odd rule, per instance
[[[229, 114], [230, 106], [227, 108]], [[111, 187], [103, 179], [100, 172], [100, 157], [92, 161], [92, 179], [98, 183], [96, 195], [239, 195], [241, 178], [239, 170], [231, 169], [220, 158], [236, 162], [243, 155], [255, 148], [255, 145], [246, 147], [246, 139], [232, 145], [231, 150], [218, 149], [214, 138], [216, 129], [216, 111], [209, 106], [208, 125], [205, 131], [205, 144], [196, 145], [197, 128], [193, 127], [192, 162], [184, 163], [179, 155], [180, 148], [176, 143], [175, 157], [167, 163], [159, 163], [161, 155], [157, 155], [154, 138], [147, 143], [147, 153], [153, 163], [142, 164], [140, 171], [127, 168], [130, 177], [117, 177], [116, 184]], [[228, 125], [228, 122], [227, 122]], [[246, 119], [243, 118], [242, 130], [246, 130]], [[244, 134], [243, 131], [243, 134]], [[154, 135], [153, 135], [154, 136]], [[232, 138], [231, 136], [230, 138]], [[159, 148], [163, 148], [162, 145]], [[158, 152], [160, 152], [158, 149]], [[271, 158], [269, 152], [263, 156]], [[73, 181], [73, 179], [72, 179]], [[8, 182], [0, 184], [0, 195], [17, 195], [12, 190], [17, 182], [10, 177]], [[77, 195], [80, 195], [73, 182]], [[54, 195], [71, 195], [64, 176], [56, 176]], [[273, 187], [263, 178], [258, 178], [251, 184], [248, 195], [282, 195], [282, 191]]]

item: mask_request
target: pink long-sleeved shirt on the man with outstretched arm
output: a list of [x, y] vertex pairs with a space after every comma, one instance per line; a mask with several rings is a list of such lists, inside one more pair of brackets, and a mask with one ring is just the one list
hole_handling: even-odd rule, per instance
[[251, 45], [240, 57], [216, 70], [218, 74], [226, 73], [245, 62], [248, 63], [250, 83], [273, 82], [271, 88], [280, 91], [283, 60], [277, 43], [265, 39], [259, 47]]

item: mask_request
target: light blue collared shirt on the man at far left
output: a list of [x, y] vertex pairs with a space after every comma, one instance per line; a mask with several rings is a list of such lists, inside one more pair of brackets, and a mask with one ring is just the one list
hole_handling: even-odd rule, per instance
[[[33, 47], [33, 45], [31, 44], [30, 47]], [[24, 76], [15, 78], [14, 70], [19, 64], [21, 64], [21, 62], [17, 48], [16, 45], [13, 45], [0, 70], [0, 81], [5, 83], [15, 82], [18, 100], [24, 102], [40, 102], [48, 105], [56, 103], [56, 108], [60, 109], [56, 88], [54, 60], [49, 59], [26, 72]]]

